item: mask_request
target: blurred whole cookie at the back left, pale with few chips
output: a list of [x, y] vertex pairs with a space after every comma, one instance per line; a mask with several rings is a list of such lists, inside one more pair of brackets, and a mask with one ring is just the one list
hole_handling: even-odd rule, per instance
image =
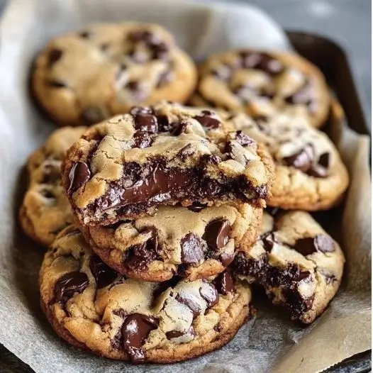
[[48, 43], [33, 69], [33, 92], [62, 125], [91, 125], [133, 105], [184, 102], [196, 67], [164, 28], [96, 24]]

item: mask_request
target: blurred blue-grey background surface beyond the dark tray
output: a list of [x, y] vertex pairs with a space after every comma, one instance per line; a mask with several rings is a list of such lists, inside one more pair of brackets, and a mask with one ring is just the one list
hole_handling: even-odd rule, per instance
[[[7, 0], [0, 0], [0, 14], [6, 2]], [[211, 1], [204, 0], [204, 2]], [[237, 2], [260, 6], [286, 30], [316, 33], [338, 43], [347, 54], [364, 116], [367, 125], [371, 128], [371, 0], [237, 0]], [[370, 353], [363, 353], [345, 364], [329, 369], [328, 372], [369, 372], [370, 366]], [[26, 364], [0, 345], [0, 372], [31, 371]]]

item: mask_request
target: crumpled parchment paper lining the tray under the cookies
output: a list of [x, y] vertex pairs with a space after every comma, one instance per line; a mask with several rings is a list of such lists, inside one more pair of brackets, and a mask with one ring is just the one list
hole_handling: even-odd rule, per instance
[[[0, 28], [0, 342], [36, 372], [318, 372], [371, 346], [371, 184], [369, 139], [330, 125], [350, 170], [345, 205], [317, 213], [345, 250], [343, 286], [308, 328], [282, 317], [267, 301], [226, 347], [189, 362], [134, 367], [81, 352], [60, 341], [39, 306], [43, 249], [24, 237], [16, 210], [26, 188], [22, 167], [54, 125], [28, 97], [28, 70], [53, 35], [96, 21], [153, 21], [171, 30], [197, 60], [240, 46], [283, 50], [282, 30], [250, 7], [179, 1], [15, 0]], [[341, 111], [335, 106], [336, 116]], [[333, 224], [330, 224], [333, 222]]]

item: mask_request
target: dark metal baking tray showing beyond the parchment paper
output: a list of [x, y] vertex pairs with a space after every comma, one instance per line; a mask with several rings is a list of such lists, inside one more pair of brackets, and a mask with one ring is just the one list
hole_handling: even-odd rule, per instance
[[[358, 133], [369, 135], [367, 121], [364, 118], [362, 104], [357, 94], [357, 85], [352, 77], [350, 64], [343, 48], [333, 40], [313, 33], [286, 31], [286, 34], [294, 49], [321, 69], [329, 86], [343, 106], [348, 126]], [[371, 367], [372, 352], [367, 351], [350, 357], [324, 372], [363, 373], [370, 372]], [[33, 370], [0, 345], [0, 372], [30, 373]]]

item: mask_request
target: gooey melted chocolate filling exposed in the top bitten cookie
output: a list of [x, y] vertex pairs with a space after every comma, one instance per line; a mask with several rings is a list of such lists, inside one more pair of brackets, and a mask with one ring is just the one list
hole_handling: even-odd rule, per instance
[[232, 179], [222, 177], [222, 181], [218, 182], [206, 176], [201, 167], [167, 168], [162, 160], [153, 160], [143, 167], [128, 162], [124, 167], [122, 179], [111, 182], [108, 193], [87, 207], [93, 216], [115, 208], [117, 221], [121, 216], [135, 217], [160, 204], [223, 199], [225, 196], [255, 204], [258, 199], [267, 197], [266, 186], [253, 187], [243, 176]]

